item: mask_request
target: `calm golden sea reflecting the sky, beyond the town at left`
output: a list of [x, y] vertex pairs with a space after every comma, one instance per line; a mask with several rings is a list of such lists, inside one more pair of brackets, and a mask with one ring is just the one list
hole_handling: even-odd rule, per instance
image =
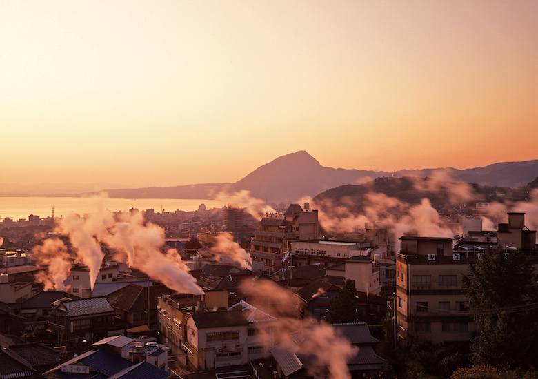
[[177, 209], [190, 212], [197, 210], [200, 204], [205, 204], [206, 209], [228, 205], [222, 201], [191, 198], [0, 197], [0, 218], [28, 220], [30, 214], [46, 218], [52, 216], [53, 207], [55, 217], [66, 216], [71, 212], [89, 214], [103, 208], [112, 212], [127, 212], [131, 208], [141, 211], [155, 209], [155, 212], [161, 212], [161, 209], [166, 212], [175, 212]]

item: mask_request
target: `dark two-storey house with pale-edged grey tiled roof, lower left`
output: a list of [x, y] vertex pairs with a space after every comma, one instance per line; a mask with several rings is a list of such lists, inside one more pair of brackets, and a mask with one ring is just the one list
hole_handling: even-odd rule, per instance
[[51, 329], [57, 332], [58, 345], [77, 353], [114, 331], [115, 316], [106, 298], [57, 300], [48, 315]]

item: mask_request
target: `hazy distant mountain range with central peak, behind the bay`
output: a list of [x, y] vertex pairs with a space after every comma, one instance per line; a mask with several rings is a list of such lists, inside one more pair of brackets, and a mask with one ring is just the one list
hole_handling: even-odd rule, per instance
[[498, 187], [515, 188], [538, 177], [538, 160], [495, 163], [486, 167], [457, 170], [451, 167], [400, 170], [397, 172], [346, 170], [323, 167], [305, 151], [280, 156], [258, 167], [235, 183], [178, 185], [139, 189], [109, 189], [111, 198], [215, 198], [221, 191], [248, 190], [251, 196], [268, 202], [297, 202], [301, 196], [314, 197], [341, 185], [359, 184], [379, 177], [437, 177]]

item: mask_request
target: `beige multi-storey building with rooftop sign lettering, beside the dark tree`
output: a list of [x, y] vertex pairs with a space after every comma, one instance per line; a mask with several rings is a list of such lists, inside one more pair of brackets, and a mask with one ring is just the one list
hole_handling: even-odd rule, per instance
[[451, 238], [401, 237], [396, 256], [396, 322], [399, 344], [470, 340], [476, 331], [461, 291], [469, 259]]

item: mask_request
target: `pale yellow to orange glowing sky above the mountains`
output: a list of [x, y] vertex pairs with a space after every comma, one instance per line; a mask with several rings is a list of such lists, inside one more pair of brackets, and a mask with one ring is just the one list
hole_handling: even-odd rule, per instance
[[0, 2], [0, 185], [538, 158], [538, 1]]

